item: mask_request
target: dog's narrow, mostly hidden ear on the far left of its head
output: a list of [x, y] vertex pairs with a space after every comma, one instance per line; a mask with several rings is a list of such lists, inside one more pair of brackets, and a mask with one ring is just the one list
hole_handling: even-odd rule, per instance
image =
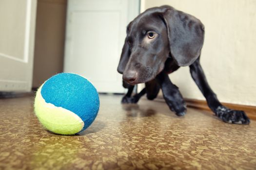
[[130, 53], [131, 53], [130, 52], [130, 47], [129, 47], [129, 44], [127, 42], [127, 39], [125, 38], [122, 53], [121, 53], [121, 57], [120, 57], [120, 61], [119, 61], [119, 64], [118, 64], [118, 72], [120, 74], [123, 73], [123, 71], [126, 67], [126, 64], [128, 63]]

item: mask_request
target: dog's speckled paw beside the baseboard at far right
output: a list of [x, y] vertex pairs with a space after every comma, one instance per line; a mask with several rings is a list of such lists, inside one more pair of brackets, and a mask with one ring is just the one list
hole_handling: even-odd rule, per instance
[[216, 116], [227, 123], [234, 124], [249, 124], [250, 119], [246, 116], [242, 110], [232, 110], [225, 106], [218, 106], [216, 110]]

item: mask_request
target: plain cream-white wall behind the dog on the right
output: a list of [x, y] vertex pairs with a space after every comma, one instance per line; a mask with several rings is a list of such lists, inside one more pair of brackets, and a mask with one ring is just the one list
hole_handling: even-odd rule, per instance
[[[204, 24], [201, 65], [220, 102], [255, 106], [256, 0], [141, 0], [141, 12], [164, 4]], [[188, 67], [170, 78], [184, 98], [204, 100]]]

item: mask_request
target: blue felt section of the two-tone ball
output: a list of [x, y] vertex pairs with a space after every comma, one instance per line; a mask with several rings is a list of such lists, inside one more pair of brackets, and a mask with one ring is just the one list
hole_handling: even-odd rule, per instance
[[99, 98], [96, 88], [84, 77], [73, 73], [59, 73], [48, 79], [41, 88], [45, 102], [77, 114], [86, 129], [98, 114]]

